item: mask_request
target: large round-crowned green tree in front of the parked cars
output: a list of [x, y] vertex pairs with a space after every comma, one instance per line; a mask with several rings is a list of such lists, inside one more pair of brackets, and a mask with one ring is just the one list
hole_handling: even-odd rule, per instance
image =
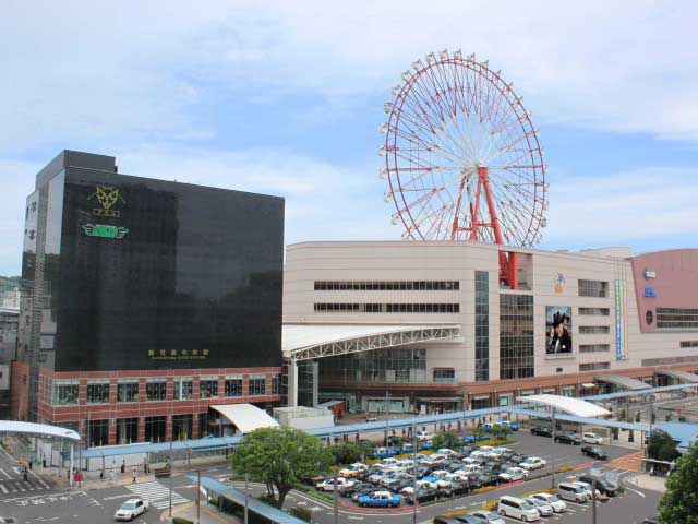
[[286, 427], [255, 429], [230, 455], [238, 475], [249, 474], [250, 479], [264, 483], [272, 498], [277, 489], [278, 508], [302, 477], [327, 473], [332, 463], [329, 449], [317, 437]]

